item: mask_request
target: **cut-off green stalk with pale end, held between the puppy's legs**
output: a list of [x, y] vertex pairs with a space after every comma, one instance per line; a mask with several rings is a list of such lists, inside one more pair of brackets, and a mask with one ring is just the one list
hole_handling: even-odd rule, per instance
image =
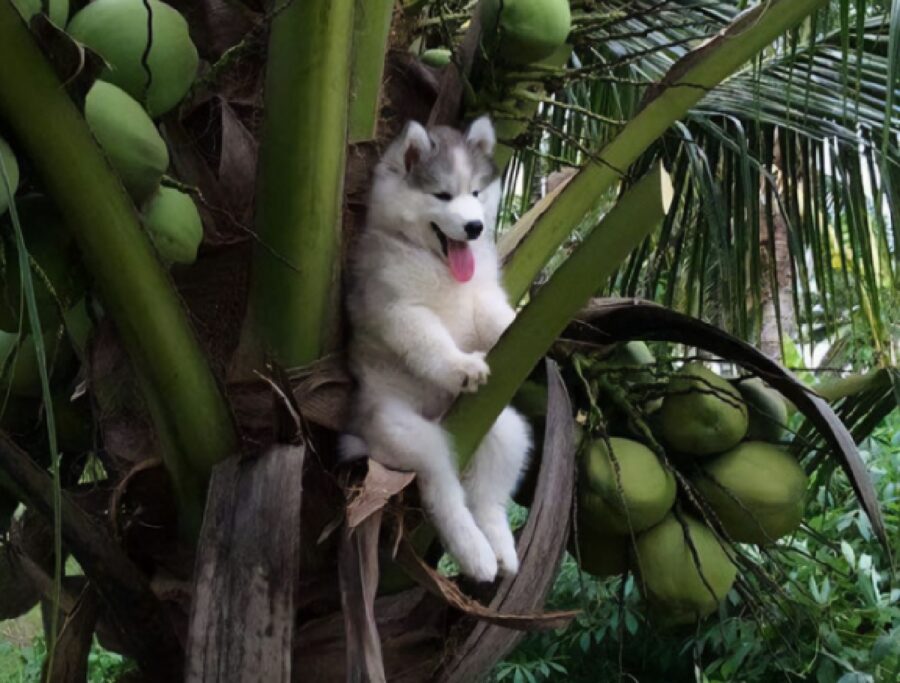
[[444, 420], [465, 469], [497, 415], [569, 321], [665, 217], [672, 183], [662, 165], [629, 189], [522, 310], [487, 357], [491, 379]]

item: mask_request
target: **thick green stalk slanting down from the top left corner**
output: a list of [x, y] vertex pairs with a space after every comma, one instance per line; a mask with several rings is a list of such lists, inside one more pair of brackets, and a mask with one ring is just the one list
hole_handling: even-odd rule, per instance
[[228, 406], [131, 199], [9, 0], [0, 0], [0, 63], [0, 119], [75, 237], [193, 526], [212, 466], [236, 445]]

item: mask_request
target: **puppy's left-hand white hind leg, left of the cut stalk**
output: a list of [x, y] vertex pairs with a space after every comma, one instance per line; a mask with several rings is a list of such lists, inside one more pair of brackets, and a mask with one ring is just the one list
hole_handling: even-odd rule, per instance
[[463, 573], [477, 581], [493, 581], [497, 557], [466, 507], [444, 431], [397, 402], [380, 406], [366, 432], [372, 457], [389, 467], [416, 472], [422, 504]]

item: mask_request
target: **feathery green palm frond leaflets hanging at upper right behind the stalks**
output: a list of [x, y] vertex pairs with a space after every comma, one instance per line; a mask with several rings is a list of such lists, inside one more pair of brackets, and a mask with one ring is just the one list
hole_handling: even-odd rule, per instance
[[[733, 20], [740, 4], [573, 2], [574, 53], [565, 70], [543, 75], [553, 95], [508, 171], [507, 187], [518, 194], [507, 197], [506, 219], [533, 203], [531, 178], [588, 160], [648, 87]], [[652, 298], [752, 339], [765, 285], [777, 290], [767, 226], [784, 221], [782, 268], [790, 270], [802, 339], [835, 341], [848, 326], [866, 329], [882, 360], [895, 359], [898, 78], [898, 3], [835, 1], [784, 36], [631, 170], [637, 177], [662, 159], [678, 200], [609, 293]], [[598, 211], [613, 200], [598, 197]]]

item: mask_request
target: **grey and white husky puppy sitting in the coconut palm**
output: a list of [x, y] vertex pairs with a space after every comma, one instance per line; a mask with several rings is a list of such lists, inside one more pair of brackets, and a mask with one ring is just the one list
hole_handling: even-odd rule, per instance
[[460, 478], [440, 418], [487, 381], [485, 354], [515, 317], [500, 284], [500, 180], [487, 117], [461, 133], [415, 122], [375, 169], [350, 268], [350, 370], [358, 383], [347, 457], [415, 471], [422, 502], [462, 571], [519, 567], [506, 504], [531, 447], [506, 408]]

